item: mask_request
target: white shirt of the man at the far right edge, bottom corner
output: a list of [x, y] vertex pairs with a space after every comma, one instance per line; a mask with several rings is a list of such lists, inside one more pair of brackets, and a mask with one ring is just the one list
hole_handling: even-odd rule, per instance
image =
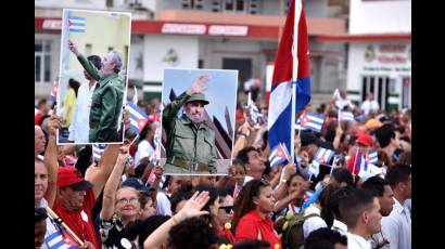
[[391, 248], [411, 248], [411, 215], [409, 210], [394, 198], [393, 211], [382, 218], [382, 231]]

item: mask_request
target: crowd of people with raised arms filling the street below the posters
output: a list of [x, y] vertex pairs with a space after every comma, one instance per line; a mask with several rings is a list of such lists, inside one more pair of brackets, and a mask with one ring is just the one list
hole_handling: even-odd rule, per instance
[[[383, 112], [372, 99], [369, 93], [358, 106], [340, 92], [330, 103], [306, 106], [325, 115], [322, 129], [295, 132], [295, 159], [278, 165], [269, 161], [267, 109], [258, 121], [240, 107], [227, 175], [164, 175], [151, 160], [152, 121], [135, 143], [126, 133], [124, 144], [107, 145], [94, 162], [91, 145], [56, 145], [66, 120], [41, 101], [35, 118], [35, 246], [410, 249], [410, 110]], [[142, 107], [160, 113], [158, 101]], [[339, 120], [339, 110], [355, 119]], [[123, 123], [128, 130], [128, 117]], [[314, 175], [319, 148], [335, 156]], [[373, 152], [380, 170], [360, 173], [358, 155]]]

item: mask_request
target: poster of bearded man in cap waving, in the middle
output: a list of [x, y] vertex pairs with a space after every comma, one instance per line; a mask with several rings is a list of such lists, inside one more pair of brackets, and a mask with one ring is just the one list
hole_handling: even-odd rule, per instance
[[227, 174], [237, 88], [238, 70], [164, 70], [161, 161], [166, 174]]

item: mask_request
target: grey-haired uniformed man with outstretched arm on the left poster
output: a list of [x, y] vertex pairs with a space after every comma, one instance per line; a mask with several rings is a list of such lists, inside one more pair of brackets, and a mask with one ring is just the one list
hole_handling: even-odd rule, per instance
[[85, 58], [76, 45], [68, 41], [69, 50], [98, 83], [91, 97], [90, 143], [122, 142], [117, 135], [118, 118], [124, 101], [124, 82], [117, 75], [122, 68], [122, 53], [112, 50], [102, 60], [102, 68]]

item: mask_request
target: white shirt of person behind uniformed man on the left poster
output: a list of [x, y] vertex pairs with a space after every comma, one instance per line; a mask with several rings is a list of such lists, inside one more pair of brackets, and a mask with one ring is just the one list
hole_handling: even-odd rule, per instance
[[74, 141], [76, 144], [89, 143], [90, 132], [90, 109], [91, 109], [91, 96], [96, 88], [94, 83], [90, 88], [90, 83], [82, 83], [77, 90], [76, 108], [73, 115], [73, 121], [69, 126], [69, 141]]

